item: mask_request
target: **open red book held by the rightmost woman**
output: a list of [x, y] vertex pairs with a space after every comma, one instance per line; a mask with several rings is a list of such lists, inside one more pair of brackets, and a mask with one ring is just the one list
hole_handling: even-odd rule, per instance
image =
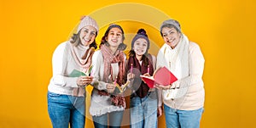
[[173, 75], [166, 67], [160, 67], [158, 70], [155, 70], [153, 76], [140, 76], [150, 88], [153, 88], [154, 84], [168, 86], [177, 81], [176, 76]]

